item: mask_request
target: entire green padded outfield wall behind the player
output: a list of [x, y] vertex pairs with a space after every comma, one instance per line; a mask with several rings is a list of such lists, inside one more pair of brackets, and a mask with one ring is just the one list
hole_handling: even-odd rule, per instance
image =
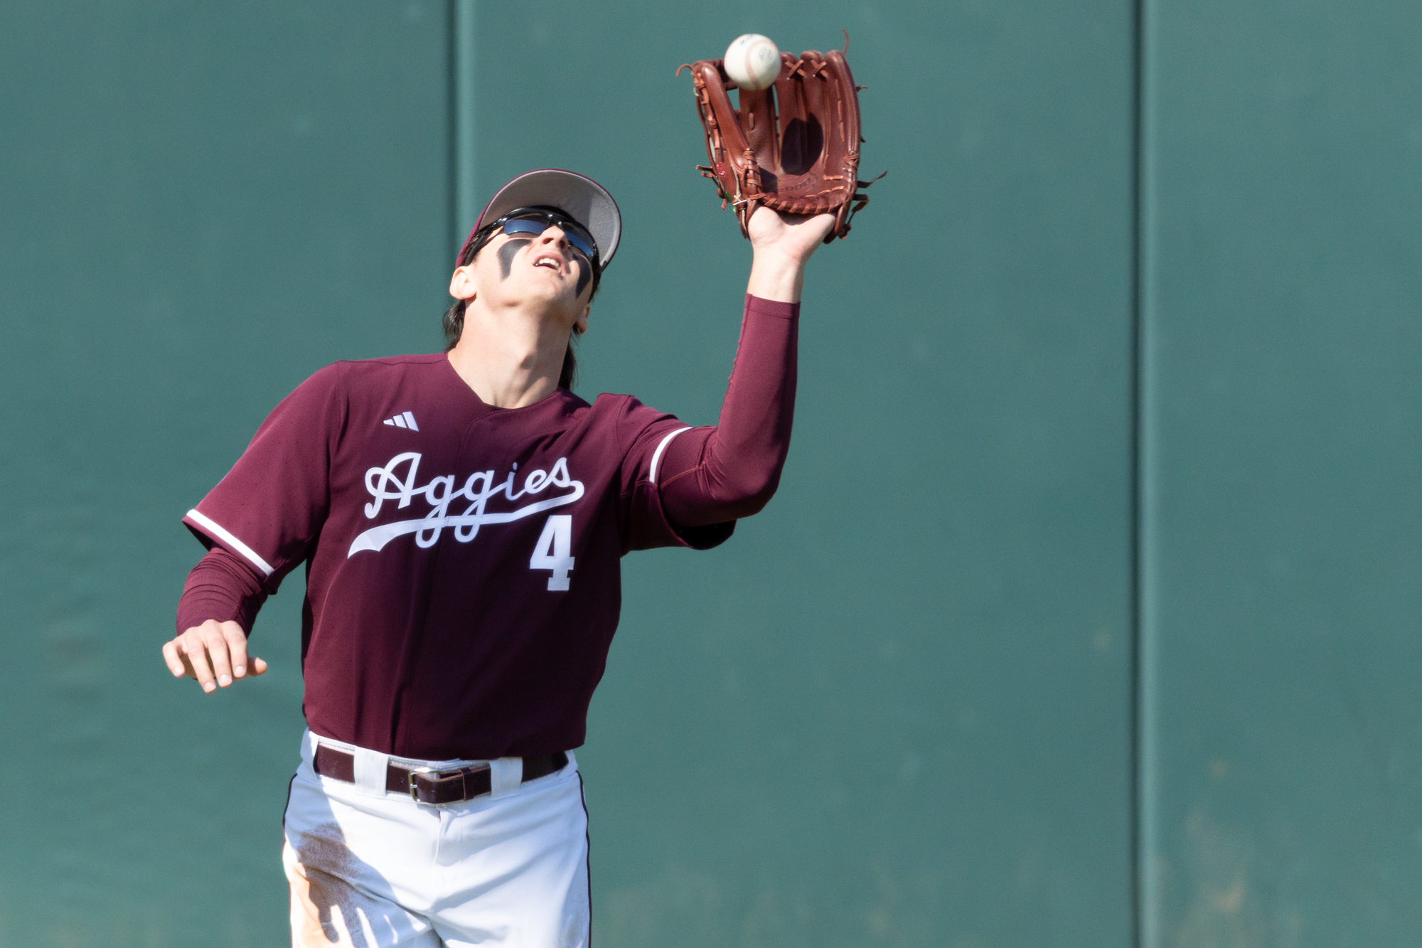
[[1422, 941], [1422, 16], [1394, 0], [0, 6], [0, 948], [287, 944], [296, 574], [216, 696], [179, 518], [441, 347], [532, 167], [626, 223], [579, 391], [717, 418], [749, 248], [675, 67], [850, 37], [766, 511], [624, 561], [599, 948]]

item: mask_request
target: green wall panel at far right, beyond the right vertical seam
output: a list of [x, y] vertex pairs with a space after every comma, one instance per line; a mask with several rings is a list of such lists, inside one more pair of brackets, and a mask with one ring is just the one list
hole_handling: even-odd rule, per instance
[[1422, 16], [1148, 24], [1146, 944], [1418, 944]]

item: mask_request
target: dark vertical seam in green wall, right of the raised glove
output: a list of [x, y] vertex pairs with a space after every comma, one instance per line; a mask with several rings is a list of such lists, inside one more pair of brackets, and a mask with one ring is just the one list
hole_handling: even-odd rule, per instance
[[1142, 265], [1145, 258], [1145, 226], [1142, 221], [1145, 186], [1145, 0], [1132, 3], [1130, 37], [1130, 938], [1135, 948], [1145, 948], [1145, 878], [1148, 854], [1145, 841], [1145, 707], [1142, 706], [1142, 446], [1145, 431], [1143, 364], [1142, 364]]

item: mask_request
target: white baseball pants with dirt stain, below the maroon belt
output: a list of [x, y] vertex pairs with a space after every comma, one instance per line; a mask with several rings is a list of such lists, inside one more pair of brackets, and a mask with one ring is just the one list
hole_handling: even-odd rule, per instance
[[[311, 767], [316, 742], [356, 756], [357, 783]], [[587, 810], [577, 762], [518, 783], [493, 762], [493, 793], [431, 806], [385, 791], [387, 757], [310, 732], [286, 806], [282, 861], [294, 948], [586, 948]]]

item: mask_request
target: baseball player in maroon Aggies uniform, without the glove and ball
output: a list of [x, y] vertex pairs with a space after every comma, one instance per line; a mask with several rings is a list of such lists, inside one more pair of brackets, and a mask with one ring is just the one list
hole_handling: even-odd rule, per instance
[[725, 541], [789, 444], [805, 263], [833, 218], [749, 221], [717, 427], [570, 390], [617, 251], [611, 195], [503, 185], [456, 259], [438, 354], [321, 369], [183, 518], [175, 676], [262, 675], [246, 636], [304, 564], [307, 732], [284, 814], [293, 945], [589, 941], [583, 743], [633, 549]]

